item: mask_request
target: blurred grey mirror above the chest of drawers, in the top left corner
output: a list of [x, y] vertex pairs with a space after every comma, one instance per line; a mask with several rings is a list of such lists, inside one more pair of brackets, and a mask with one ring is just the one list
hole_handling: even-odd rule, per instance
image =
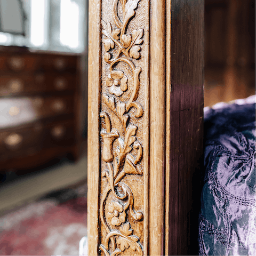
[[25, 36], [27, 17], [21, 0], [0, 0], [0, 31]]

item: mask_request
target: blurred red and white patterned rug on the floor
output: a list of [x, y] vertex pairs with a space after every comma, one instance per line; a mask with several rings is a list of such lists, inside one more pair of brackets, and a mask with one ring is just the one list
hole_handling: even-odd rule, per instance
[[47, 198], [0, 218], [0, 255], [78, 255], [87, 202]]

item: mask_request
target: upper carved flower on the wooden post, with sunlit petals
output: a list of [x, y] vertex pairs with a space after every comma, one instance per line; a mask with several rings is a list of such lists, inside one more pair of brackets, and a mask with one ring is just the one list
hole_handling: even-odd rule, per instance
[[116, 96], [121, 96], [127, 90], [127, 76], [124, 75], [123, 71], [113, 70], [108, 75], [107, 86], [109, 92]]

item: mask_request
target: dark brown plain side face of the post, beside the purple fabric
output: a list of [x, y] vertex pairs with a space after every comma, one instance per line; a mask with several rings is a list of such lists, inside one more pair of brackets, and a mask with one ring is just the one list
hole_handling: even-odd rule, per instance
[[197, 255], [203, 172], [204, 1], [172, 0], [171, 8], [169, 255]]

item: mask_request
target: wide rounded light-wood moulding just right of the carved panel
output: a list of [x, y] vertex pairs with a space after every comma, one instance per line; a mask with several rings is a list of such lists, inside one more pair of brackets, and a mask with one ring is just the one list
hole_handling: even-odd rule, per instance
[[149, 255], [164, 255], [165, 4], [150, 4]]

